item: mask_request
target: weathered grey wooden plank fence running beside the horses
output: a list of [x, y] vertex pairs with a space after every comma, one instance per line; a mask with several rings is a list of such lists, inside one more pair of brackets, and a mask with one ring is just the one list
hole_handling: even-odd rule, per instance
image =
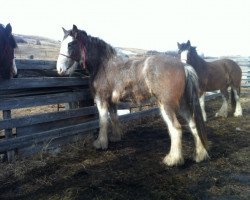
[[[97, 108], [93, 105], [88, 77], [55, 77], [55, 65], [55, 61], [17, 60], [19, 72], [25, 71], [23, 76], [0, 81], [0, 110], [3, 113], [0, 118], [0, 152], [7, 152], [8, 160], [13, 160], [17, 154], [28, 156], [45, 147], [47, 150], [75, 141], [85, 133], [98, 129]], [[245, 66], [249, 67], [249, 62]], [[246, 69], [243, 82], [249, 87], [250, 70]], [[27, 70], [38, 73], [39, 77], [25, 77]], [[218, 95], [206, 98], [208, 100]], [[70, 110], [13, 116], [16, 109], [34, 109], [68, 102], [81, 103]], [[124, 103], [119, 108], [133, 106]], [[158, 113], [157, 108], [151, 108], [120, 116], [120, 119], [129, 121]]]

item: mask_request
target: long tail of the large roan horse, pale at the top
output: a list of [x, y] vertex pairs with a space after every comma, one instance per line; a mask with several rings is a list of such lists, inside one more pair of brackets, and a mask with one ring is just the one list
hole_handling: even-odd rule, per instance
[[208, 148], [207, 145], [207, 134], [206, 134], [206, 127], [205, 122], [203, 120], [202, 111], [200, 107], [199, 102], [199, 82], [198, 82], [198, 76], [194, 70], [193, 67], [190, 65], [186, 65], [185, 67], [185, 73], [186, 73], [186, 99], [187, 99], [187, 105], [190, 109], [191, 114], [194, 116], [194, 121], [196, 124], [196, 128], [198, 131], [198, 135], [201, 139], [201, 142], [205, 149]]

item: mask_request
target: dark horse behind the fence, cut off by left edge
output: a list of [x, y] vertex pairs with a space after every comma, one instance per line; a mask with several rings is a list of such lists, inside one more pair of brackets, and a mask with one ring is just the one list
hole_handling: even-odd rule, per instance
[[17, 47], [12, 27], [0, 24], [0, 79], [9, 79], [17, 74], [14, 49]]

